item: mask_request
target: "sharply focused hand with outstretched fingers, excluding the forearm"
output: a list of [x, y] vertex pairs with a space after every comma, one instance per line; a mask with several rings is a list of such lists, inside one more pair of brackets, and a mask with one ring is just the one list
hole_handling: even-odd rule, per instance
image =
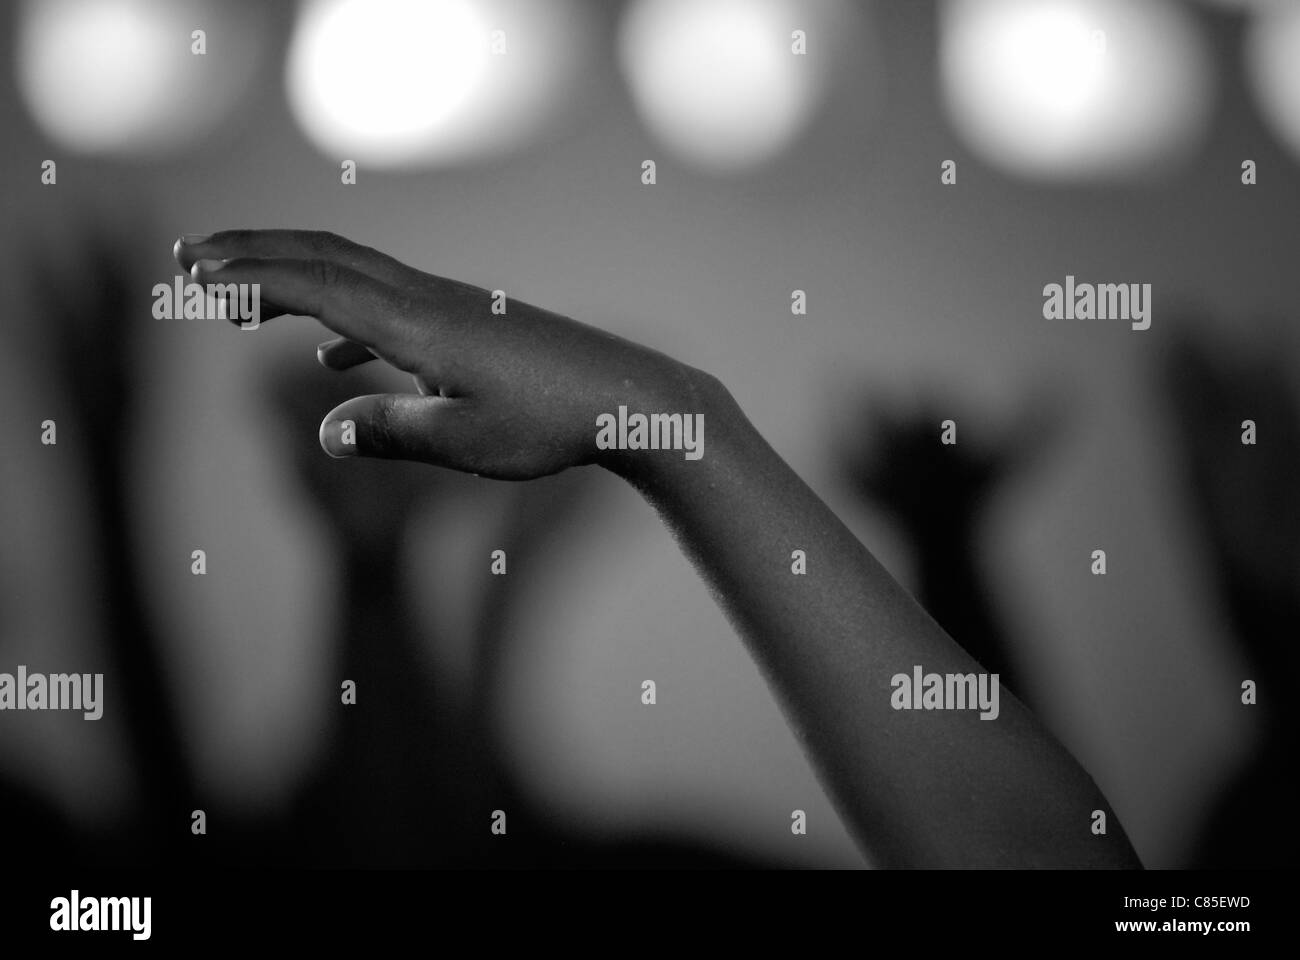
[[[226, 230], [182, 237], [177, 260], [203, 284], [259, 284], [273, 312], [341, 334], [318, 359], [347, 369], [376, 356], [415, 377], [412, 394], [356, 397], [321, 423], [334, 457], [422, 460], [526, 480], [621, 451], [595, 445], [597, 418], [690, 403], [710, 377], [654, 350], [469, 284], [421, 273], [330, 233]], [[355, 445], [342, 424], [355, 424]], [[680, 457], [680, 454], [677, 454]]]

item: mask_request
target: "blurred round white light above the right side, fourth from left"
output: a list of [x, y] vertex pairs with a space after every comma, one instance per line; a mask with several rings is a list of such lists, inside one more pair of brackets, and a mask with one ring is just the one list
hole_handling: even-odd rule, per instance
[[940, 86], [958, 135], [1011, 173], [1088, 180], [1184, 153], [1212, 105], [1209, 57], [1166, 0], [948, 0]]

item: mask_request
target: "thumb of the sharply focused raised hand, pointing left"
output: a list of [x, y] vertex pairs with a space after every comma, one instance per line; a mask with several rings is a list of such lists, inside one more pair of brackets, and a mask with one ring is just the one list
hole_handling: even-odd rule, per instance
[[455, 467], [467, 424], [464, 401], [378, 393], [338, 405], [321, 421], [321, 447], [330, 457], [377, 457]]

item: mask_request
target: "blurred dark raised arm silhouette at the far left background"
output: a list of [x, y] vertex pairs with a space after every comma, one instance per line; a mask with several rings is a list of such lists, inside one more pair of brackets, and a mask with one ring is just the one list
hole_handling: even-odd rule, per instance
[[[192, 846], [183, 849], [188, 812], [196, 807], [194, 777], [174, 691], [165, 682], [161, 641], [143, 598], [130, 496], [135, 464], [130, 444], [122, 441], [122, 424], [131, 420], [139, 401], [144, 354], [139, 300], [133, 294], [135, 264], [122, 234], [95, 224], [78, 234], [73, 250], [77, 284], [68, 282], [66, 264], [29, 251], [27, 274], [40, 317], [18, 336], [42, 380], [55, 385], [51, 395], [58, 415], [75, 424], [77, 444], [52, 449], [61, 458], [75, 458], [74, 475], [92, 524], [77, 545], [94, 578], [92, 593], [82, 602], [103, 628], [104, 674], [113, 684], [127, 762], [142, 797], [113, 842], [98, 844], [90, 857], [91, 862], [176, 862], [194, 856]], [[32, 840], [43, 835], [20, 833]]]

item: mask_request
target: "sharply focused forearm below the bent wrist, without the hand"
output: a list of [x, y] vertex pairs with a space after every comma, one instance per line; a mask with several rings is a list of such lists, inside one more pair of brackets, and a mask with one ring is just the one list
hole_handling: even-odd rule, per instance
[[[1136, 866], [1091, 778], [1005, 691], [978, 710], [896, 710], [890, 678], [979, 673], [758, 434], [690, 377], [705, 455], [619, 472], [658, 507], [783, 702], [874, 861], [898, 866]], [[792, 552], [806, 553], [806, 574]], [[916, 692], [919, 696], [919, 691]], [[1106, 812], [1108, 834], [1091, 833]]]

